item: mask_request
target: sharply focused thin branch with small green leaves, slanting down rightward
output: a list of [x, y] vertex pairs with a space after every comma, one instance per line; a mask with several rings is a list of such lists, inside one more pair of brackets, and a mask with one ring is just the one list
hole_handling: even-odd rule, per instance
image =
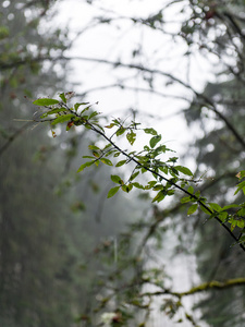
[[[40, 121], [49, 121], [51, 125], [65, 123], [66, 131], [72, 126], [82, 125], [85, 129], [91, 130], [106, 141], [103, 147], [89, 145], [91, 154], [84, 156], [84, 158], [88, 160], [81, 165], [77, 172], [82, 172], [85, 168], [93, 165], [98, 166], [100, 162], [111, 167], [114, 166], [115, 168], [131, 162], [134, 167], [126, 181], [123, 181], [118, 174], [111, 175], [111, 180], [117, 186], [109, 191], [108, 197], [114, 196], [120, 189], [123, 192], [130, 193], [135, 187], [143, 191], [150, 191], [152, 194], [157, 193], [152, 196], [152, 203], [160, 203], [166, 197], [172, 196], [176, 191], [180, 191], [184, 194], [184, 197], [181, 198], [181, 203], [191, 203], [187, 215], [193, 215], [199, 208], [208, 215], [208, 219], [216, 218], [232, 235], [235, 242], [245, 250], [245, 203], [240, 205], [229, 204], [221, 208], [219, 204], [208, 202], [206, 197], [201, 196], [199, 191], [195, 192], [193, 186], [195, 185], [193, 172], [187, 167], [176, 165], [177, 157], [164, 158], [166, 154], [172, 152], [172, 149], [160, 143], [162, 136], [155, 129], [142, 129], [140, 124], [134, 121], [126, 124], [121, 119], [112, 119], [109, 124], [102, 125], [100, 113], [94, 111], [91, 105], [88, 102], [77, 102], [74, 106], [68, 105], [68, 101], [73, 95], [73, 93], [62, 93], [59, 95], [61, 100], [40, 98], [35, 100], [34, 105], [46, 109], [46, 112], [40, 117]], [[106, 130], [112, 131], [111, 135], [108, 135]], [[125, 135], [131, 147], [134, 145], [138, 133], [142, 132], [150, 136], [149, 143], [144, 145], [142, 150], [124, 150], [118, 145], [118, 141], [114, 141], [114, 138]], [[123, 156], [124, 159], [115, 161], [119, 156]], [[145, 172], [150, 173], [154, 179], [144, 185], [138, 178]], [[240, 180], [244, 177], [245, 172], [241, 171], [238, 173]], [[235, 194], [241, 190], [245, 193], [244, 181], [238, 183]], [[229, 211], [231, 208], [237, 209], [235, 214]], [[230, 228], [228, 228], [225, 223], [230, 225]], [[235, 227], [241, 229], [241, 235], [238, 238], [233, 233]]]

